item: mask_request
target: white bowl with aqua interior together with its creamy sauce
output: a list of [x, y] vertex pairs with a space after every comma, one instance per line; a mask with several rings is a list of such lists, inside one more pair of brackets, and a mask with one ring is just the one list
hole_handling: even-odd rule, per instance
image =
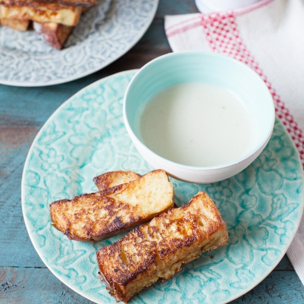
[[140, 68], [123, 104], [142, 157], [177, 179], [210, 183], [250, 165], [275, 122], [272, 96], [245, 64], [211, 52], [177, 52]]

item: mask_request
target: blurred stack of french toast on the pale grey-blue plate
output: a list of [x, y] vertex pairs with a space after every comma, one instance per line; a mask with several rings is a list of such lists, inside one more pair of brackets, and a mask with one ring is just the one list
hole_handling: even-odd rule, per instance
[[97, 0], [0, 0], [0, 25], [34, 29], [51, 47], [61, 50], [82, 13]]

